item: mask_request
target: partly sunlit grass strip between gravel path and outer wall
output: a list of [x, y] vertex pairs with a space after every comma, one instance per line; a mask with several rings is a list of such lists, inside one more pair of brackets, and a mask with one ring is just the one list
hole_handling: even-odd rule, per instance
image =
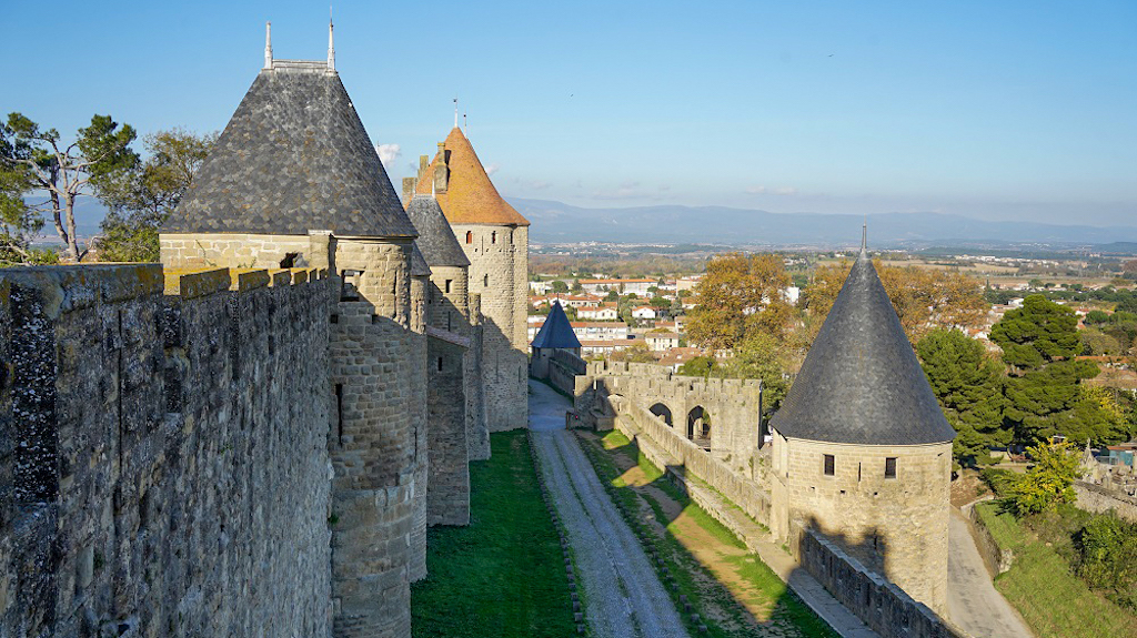
[[[775, 635], [787, 638], [837, 636], [756, 554], [746, 551], [733, 532], [667, 480], [634, 443], [615, 430], [600, 440], [591, 435], [581, 438], [600, 481], [652, 555], [692, 633], [733, 638], [764, 636], [777, 628]], [[623, 457], [622, 463], [617, 456]], [[634, 486], [625, 479], [632, 468], [642, 473], [642, 481]], [[653, 489], [674, 506], [661, 502]], [[714, 546], [690, 547], [691, 528], [684, 530], [680, 519], [697, 526], [700, 542]], [[707, 551], [717, 553], [717, 564], [705, 564], [696, 549], [704, 557]], [[697, 633], [700, 624], [706, 633]]]

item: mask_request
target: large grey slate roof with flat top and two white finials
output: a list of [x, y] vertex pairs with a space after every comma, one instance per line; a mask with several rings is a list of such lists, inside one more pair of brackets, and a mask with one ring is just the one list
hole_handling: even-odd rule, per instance
[[351, 99], [324, 62], [252, 82], [163, 233], [414, 237]]

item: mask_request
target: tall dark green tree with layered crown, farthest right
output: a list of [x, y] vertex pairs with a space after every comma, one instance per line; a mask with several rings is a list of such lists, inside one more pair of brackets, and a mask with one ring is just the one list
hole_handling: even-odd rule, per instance
[[1006, 381], [1007, 423], [1024, 443], [1062, 435], [1072, 440], [1112, 443], [1119, 426], [1081, 381], [1099, 372], [1093, 361], [1079, 361], [1078, 319], [1064, 305], [1030, 295], [991, 328], [1011, 367]]

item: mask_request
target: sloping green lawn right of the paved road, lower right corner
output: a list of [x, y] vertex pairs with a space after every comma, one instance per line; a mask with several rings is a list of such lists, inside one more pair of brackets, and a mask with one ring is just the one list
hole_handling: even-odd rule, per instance
[[1090, 591], [1070, 563], [1023, 529], [998, 502], [976, 505], [996, 543], [1014, 552], [1011, 570], [995, 579], [1039, 638], [1137, 637], [1137, 618]]

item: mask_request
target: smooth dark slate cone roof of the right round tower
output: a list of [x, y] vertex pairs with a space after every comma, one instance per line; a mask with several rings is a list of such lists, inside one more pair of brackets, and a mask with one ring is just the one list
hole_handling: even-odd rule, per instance
[[861, 445], [955, 438], [864, 247], [770, 425]]

